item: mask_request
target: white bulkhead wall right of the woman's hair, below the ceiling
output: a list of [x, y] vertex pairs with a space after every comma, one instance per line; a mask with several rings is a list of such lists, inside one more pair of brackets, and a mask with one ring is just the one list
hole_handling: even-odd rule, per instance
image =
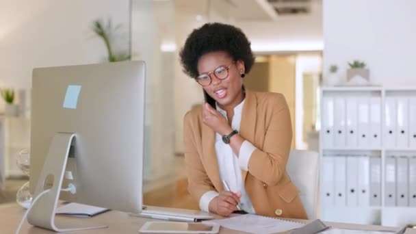
[[311, 13], [278, 16], [276, 21], [235, 22], [252, 43], [252, 50], [317, 51], [323, 48], [322, 3], [311, 1]]

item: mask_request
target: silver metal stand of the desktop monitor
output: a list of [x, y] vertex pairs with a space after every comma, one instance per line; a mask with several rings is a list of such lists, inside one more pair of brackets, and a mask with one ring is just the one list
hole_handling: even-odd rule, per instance
[[64, 225], [64, 228], [58, 228], [55, 225], [55, 210], [57, 201], [60, 197], [62, 181], [64, 179], [64, 172], [66, 169], [66, 162], [68, 161], [68, 153], [71, 142], [75, 138], [75, 133], [56, 133], [49, 146], [47, 159], [44, 163], [38, 184], [36, 185], [34, 198], [44, 192], [44, 184], [52, 177], [53, 185], [48, 192], [42, 194], [38, 200], [29, 207], [27, 221], [44, 229], [50, 229], [56, 232], [64, 231], [79, 231], [88, 229], [101, 229], [107, 226], [70, 226]]

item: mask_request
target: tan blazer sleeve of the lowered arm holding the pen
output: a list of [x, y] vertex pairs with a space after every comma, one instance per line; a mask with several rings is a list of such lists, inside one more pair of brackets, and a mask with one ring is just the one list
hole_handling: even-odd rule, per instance
[[216, 191], [216, 189], [209, 179], [201, 161], [201, 157], [196, 149], [196, 138], [200, 137], [200, 135], [193, 131], [193, 129], [198, 128], [198, 126], [192, 126], [192, 114], [190, 112], [185, 115], [183, 126], [185, 168], [188, 181], [187, 189], [191, 196], [199, 202], [203, 194], [208, 191]]

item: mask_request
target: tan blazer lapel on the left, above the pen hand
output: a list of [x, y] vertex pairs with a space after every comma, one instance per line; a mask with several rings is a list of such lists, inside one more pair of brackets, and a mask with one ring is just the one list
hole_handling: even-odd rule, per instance
[[[202, 122], [202, 120], [201, 120]], [[220, 179], [220, 170], [218, 170], [218, 160], [215, 151], [215, 133], [203, 123], [203, 161], [208, 177], [211, 179], [214, 187], [219, 192], [224, 190]]]

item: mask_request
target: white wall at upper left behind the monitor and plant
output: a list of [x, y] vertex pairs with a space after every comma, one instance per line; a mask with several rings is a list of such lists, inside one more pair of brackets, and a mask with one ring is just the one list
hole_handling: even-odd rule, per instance
[[29, 89], [34, 67], [103, 61], [90, 25], [108, 17], [128, 38], [129, 0], [1, 0], [0, 86]]

